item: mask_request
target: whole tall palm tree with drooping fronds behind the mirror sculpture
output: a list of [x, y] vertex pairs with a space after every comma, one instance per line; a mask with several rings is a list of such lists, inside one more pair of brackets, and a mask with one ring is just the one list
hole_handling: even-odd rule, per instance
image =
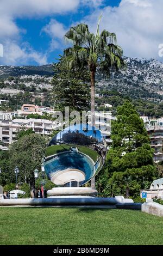
[[[80, 23], [71, 27], [65, 39], [72, 43], [64, 51], [64, 61], [68, 70], [90, 70], [91, 82], [91, 113], [92, 126], [95, 126], [95, 74], [98, 70], [102, 75], [109, 75], [111, 71], [122, 68], [122, 48], [116, 45], [116, 34], [106, 30], [99, 33], [99, 18], [96, 34], [89, 31], [86, 24]], [[95, 187], [95, 180], [93, 180]]]

